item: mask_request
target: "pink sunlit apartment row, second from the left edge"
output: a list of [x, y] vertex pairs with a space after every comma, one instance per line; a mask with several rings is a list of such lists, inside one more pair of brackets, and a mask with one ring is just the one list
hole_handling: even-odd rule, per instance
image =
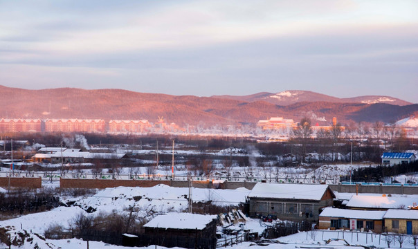
[[104, 132], [104, 120], [48, 119], [46, 132]]

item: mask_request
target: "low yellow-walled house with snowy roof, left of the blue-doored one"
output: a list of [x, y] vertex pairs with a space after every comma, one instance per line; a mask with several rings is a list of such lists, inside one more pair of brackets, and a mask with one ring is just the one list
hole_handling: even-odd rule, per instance
[[324, 208], [319, 215], [319, 229], [340, 229], [382, 232], [386, 211]]

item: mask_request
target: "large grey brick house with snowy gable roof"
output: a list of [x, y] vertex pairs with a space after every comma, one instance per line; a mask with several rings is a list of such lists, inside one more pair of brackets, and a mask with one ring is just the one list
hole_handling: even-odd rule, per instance
[[282, 220], [318, 221], [319, 210], [331, 206], [334, 198], [328, 185], [257, 183], [248, 194], [249, 213], [271, 214]]

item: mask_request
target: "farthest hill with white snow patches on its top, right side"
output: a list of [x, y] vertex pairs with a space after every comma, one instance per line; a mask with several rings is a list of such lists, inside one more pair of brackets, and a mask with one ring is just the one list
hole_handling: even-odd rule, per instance
[[226, 98], [230, 100], [240, 100], [245, 102], [266, 101], [271, 104], [289, 105], [298, 102], [336, 102], [336, 103], [363, 103], [363, 104], [395, 104], [399, 106], [412, 104], [399, 98], [389, 96], [368, 95], [354, 98], [336, 98], [329, 95], [314, 93], [312, 91], [282, 91], [280, 93], [255, 93], [252, 95], [213, 95], [212, 98]]

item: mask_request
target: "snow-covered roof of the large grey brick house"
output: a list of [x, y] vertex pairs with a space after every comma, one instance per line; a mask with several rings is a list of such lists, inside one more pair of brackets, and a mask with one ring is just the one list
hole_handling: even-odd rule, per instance
[[248, 197], [320, 201], [327, 187], [325, 184], [257, 183]]

